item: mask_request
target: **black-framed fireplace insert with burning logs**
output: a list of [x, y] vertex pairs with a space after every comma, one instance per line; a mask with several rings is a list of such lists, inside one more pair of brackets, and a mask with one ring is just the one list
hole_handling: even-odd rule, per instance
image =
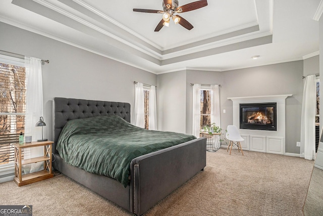
[[240, 129], [277, 131], [277, 103], [240, 104]]

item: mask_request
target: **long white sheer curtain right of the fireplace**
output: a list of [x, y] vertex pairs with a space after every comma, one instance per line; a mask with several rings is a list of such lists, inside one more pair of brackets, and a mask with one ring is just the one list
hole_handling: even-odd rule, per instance
[[300, 155], [312, 160], [315, 156], [315, 103], [316, 82], [315, 75], [305, 79], [301, 116], [301, 148]]

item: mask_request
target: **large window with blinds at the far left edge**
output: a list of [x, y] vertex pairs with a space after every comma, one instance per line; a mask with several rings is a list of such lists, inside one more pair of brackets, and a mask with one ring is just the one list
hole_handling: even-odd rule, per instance
[[13, 143], [24, 133], [25, 67], [0, 62], [0, 165], [14, 161]]

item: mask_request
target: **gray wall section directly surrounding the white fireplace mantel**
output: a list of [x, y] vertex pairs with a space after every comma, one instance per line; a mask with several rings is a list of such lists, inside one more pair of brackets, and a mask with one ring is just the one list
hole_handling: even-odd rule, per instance
[[[287, 153], [299, 154], [301, 109], [303, 97], [303, 61], [294, 61], [260, 67], [225, 71], [222, 73], [221, 127], [233, 123], [230, 97], [286, 95], [286, 147]], [[223, 113], [226, 109], [226, 113]]]

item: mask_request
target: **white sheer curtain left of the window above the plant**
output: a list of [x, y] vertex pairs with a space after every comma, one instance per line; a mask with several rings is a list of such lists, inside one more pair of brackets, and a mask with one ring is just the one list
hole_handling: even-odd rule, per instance
[[193, 107], [192, 107], [192, 135], [200, 136], [200, 119], [201, 119], [201, 104], [200, 104], [200, 84], [193, 85]]

